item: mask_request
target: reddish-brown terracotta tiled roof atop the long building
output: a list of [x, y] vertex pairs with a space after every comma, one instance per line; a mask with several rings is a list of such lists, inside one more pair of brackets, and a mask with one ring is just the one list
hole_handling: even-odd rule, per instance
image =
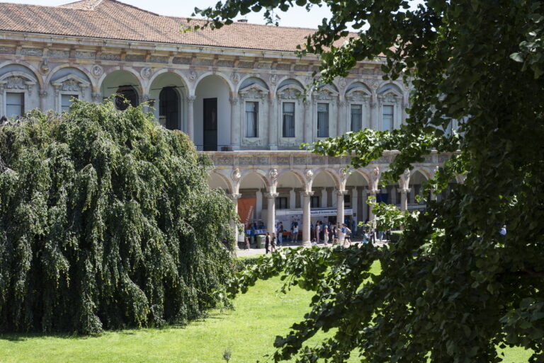
[[[201, 23], [202, 21], [193, 20]], [[181, 33], [186, 18], [159, 16], [116, 0], [62, 6], [0, 3], [0, 31], [293, 52], [314, 29], [234, 23]]]

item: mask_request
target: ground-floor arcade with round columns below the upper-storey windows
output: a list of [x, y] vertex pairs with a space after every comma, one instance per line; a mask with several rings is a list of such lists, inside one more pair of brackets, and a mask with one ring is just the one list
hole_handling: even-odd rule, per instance
[[319, 156], [309, 151], [203, 154], [210, 156], [215, 166], [209, 176], [210, 187], [225, 190], [239, 212], [245, 208], [242, 222], [275, 231], [278, 221], [286, 230], [296, 221], [305, 245], [310, 245], [310, 229], [318, 220], [350, 224], [374, 221], [368, 197], [395, 204], [401, 210], [425, 209], [424, 200], [418, 202], [416, 195], [424, 196], [423, 184], [450, 157], [431, 153], [423, 163], [414, 164], [412, 171], [401, 175], [398, 183], [382, 185], [380, 176], [387, 171], [395, 151], [387, 151], [359, 169], [346, 168], [350, 156]]

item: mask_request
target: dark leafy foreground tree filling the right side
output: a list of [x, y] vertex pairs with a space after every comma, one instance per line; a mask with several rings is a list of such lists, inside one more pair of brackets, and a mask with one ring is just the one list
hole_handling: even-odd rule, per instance
[[[375, 252], [351, 248], [337, 252], [361, 261], [350, 266], [357, 272], [347, 272], [355, 274], [347, 291], [341, 277], [327, 275], [327, 268], [336, 267], [334, 258], [322, 256], [324, 265], [312, 264], [319, 258], [315, 250], [290, 255], [292, 260], [272, 258], [270, 272], [242, 275], [230, 289], [244, 291], [255, 277], [283, 267], [290, 273], [301, 258], [307, 261], [301, 278], [315, 287], [314, 309], [293, 333], [276, 340], [276, 360], [302, 350], [316, 329], [338, 328], [336, 339], [300, 361], [342, 362], [359, 349], [368, 362], [499, 362], [497, 345], [518, 345], [533, 350], [530, 362], [544, 362], [544, 5], [411, 3], [229, 0], [196, 11], [218, 28], [238, 13], [261, 8], [273, 22], [276, 8], [328, 6], [331, 18], [303, 50], [320, 54], [318, 82], [380, 57], [384, 78], [402, 77], [414, 91], [409, 119], [399, 129], [348, 133], [317, 142], [314, 152], [353, 155], [357, 167], [397, 149], [400, 154], [382, 175], [389, 181], [432, 149], [457, 152], [427, 188], [437, 194], [455, 175], [466, 177], [441, 202], [428, 200], [417, 219], [405, 217], [399, 243], [381, 257], [382, 275], [368, 286], [358, 289]], [[357, 33], [348, 33], [348, 25]], [[453, 120], [457, 130], [444, 132]], [[509, 233], [502, 238], [504, 224]]]

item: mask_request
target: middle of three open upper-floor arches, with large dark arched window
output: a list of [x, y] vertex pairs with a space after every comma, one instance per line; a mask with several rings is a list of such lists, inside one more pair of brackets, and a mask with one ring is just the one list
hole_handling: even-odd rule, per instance
[[155, 100], [152, 112], [159, 124], [167, 129], [186, 130], [183, 122], [185, 91], [183, 79], [173, 72], [159, 74], [151, 83], [149, 97]]

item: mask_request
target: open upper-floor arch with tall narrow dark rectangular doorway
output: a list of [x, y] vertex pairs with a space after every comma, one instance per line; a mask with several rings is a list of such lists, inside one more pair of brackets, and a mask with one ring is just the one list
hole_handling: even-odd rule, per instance
[[194, 142], [198, 150], [217, 151], [230, 144], [230, 89], [220, 76], [198, 82], [194, 103]]

